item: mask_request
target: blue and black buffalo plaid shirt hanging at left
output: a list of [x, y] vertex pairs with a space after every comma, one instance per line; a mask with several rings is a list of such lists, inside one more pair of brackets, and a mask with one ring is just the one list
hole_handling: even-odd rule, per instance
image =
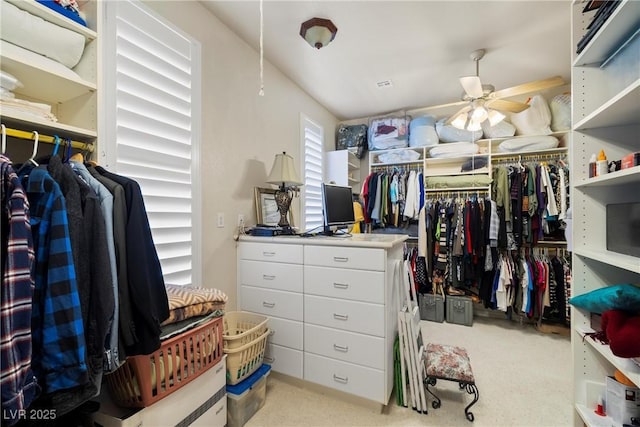
[[44, 392], [51, 393], [88, 381], [84, 327], [60, 187], [40, 168], [22, 179], [36, 253], [32, 366]]

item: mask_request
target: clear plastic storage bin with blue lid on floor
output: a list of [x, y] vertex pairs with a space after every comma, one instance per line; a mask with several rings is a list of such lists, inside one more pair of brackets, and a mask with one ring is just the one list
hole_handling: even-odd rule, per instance
[[264, 406], [271, 366], [262, 365], [247, 379], [227, 386], [227, 426], [242, 427]]

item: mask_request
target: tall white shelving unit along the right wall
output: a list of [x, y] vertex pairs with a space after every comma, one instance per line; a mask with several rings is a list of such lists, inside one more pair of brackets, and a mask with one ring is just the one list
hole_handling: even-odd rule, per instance
[[[572, 45], [587, 30], [593, 12], [572, 6]], [[573, 206], [573, 295], [620, 284], [640, 285], [640, 258], [607, 250], [606, 206], [640, 202], [640, 167], [589, 178], [592, 154], [608, 159], [638, 151], [640, 135], [640, 2], [623, 0], [580, 54], [572, 58], [571, 201]], [[615, 356], [591, 338], [590, 313], [572, 308], [574, 425], [612, 425], [593, 413], [616, 369], [640, 386], [640, 367]]]

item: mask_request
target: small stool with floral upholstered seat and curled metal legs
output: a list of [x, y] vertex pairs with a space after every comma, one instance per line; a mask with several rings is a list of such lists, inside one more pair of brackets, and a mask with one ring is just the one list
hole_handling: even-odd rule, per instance
[[435, 386], [437, 380], [456, 381], [460, 389], [473, 394], [473, 401], [464, 408], [464, 414], [469, 421], [473, 421], [473, 412], [469, 411], [479, 397], [471, 361], [467, 351], [462, 347], [441, 344], [427, 344], [427, 356], [425, 358], [426, 378], [424, 380], [427, 392], [434, 397], [431, 403], [434, 409], [440, 407], [440, 398], [429, 390], [429, 386]]

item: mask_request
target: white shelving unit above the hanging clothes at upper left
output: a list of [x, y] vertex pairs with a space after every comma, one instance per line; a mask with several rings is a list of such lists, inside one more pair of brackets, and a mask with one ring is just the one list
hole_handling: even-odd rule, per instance
[[[98, 5], [95, 1], [82, 2], [87, 17], [84, 27], [69, 18], [41, 5], [35, 0], [7, 0], [16, 7], [71, 31], [85, 38], [85, 47], [80, 62], [73, 68], [74, 73], [56, 71], [33, 63], [19, 49], [2, 49], [0, 67], [21, 81], [23, 87], [14, 92], [16, 98], [52, 106], [51, 112], [57, 122], [34, 119], [20, 113], [5, 113], [0, 117], [2, 124], [21, 131], [38, 131], [46, 135], [58, 135], [74, 141], [95, 143], [98, 135], [98, 34], [96, 25]], [[11, 154], [22, 151], [19, 142], [15, 145], [8, 138]], [[27, 147], [28, 141], [21, 141]], [[17, 146], [17, 148], [16, 148]], [[28, 151], [31, 147], [27, 147]], [[20, 159], [18, 159], [20, 160]], [[24, 160], [24, 159], [22, 159]]]

